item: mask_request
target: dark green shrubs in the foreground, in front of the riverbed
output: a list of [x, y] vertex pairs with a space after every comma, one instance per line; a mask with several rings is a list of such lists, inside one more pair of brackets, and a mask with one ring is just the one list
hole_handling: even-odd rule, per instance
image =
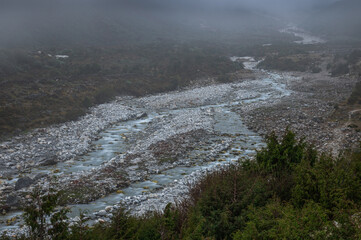
[[360, 158], [319, 154], [291, 131], [281, 140], [271, 134], [255, 161], [207, 175], [164, 213], [133, 217], [120, 210], [111, 223], [89, 228], [81, 218], [64, 228], [57, 210], [47, 227], [39, 225], [47, 212], [34, 211], [35, 201], [25, 214], [35, 226], [29, 239], [44, 239], [46, 231], [53, 239], [359, 239]]

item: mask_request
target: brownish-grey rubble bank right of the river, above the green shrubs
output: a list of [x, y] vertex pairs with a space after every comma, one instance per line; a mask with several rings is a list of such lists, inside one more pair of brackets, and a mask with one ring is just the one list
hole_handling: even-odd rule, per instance
[[272, 131], [281, 135], [289, 127], [319, 150], [335, 155], [357, 146], [361, 133], [332, 117], [338, 104], [349, 97], [356, 81], [331, 77], [326, 71], [290, 74], [293, 78], [288, 78], [287, 87], [291, 95], [272, 106], [237, 110], [247, 126], [263, 136]]

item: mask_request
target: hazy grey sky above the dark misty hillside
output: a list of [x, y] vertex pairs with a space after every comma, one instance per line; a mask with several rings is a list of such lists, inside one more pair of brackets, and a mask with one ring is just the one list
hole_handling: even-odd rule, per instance
[[[191, 21], [191, 19], [204, 18], [209, 22], [213, 20], [220, 24], [224, 21], [224, 25], [229, 26], [239, 22], [236, 20], [226, 22], [230, 15], [242, 16], [258, 11], [261, 12], [261, 15], [267, 12], [267, 14], [275, 16], [295, 16], [295, 12], [310, 12], [315, 7], [335, 1], [0, 0], [0, 43], [13, 43], [17, 40], [39, 42], [43, 36], [47, 37], [47, 40], [44, 41], [48, 41], [50, 38], [57, 40], [62, 36], [74, 39], [75, 35], [79, 35], [79, 42], [81, 42], [82, 37], [91, 39], [93, 36], [103, 34], [101, 30], [107, 28], [115, 29], [111, 31], [116, 34], [119, 31], [124, 32], [125, 29], [128, 32], [137, 29], [137, 27], [133, 27], [135, 25], [129, 25], [129, 23], [139, 22], [138, 27], [148, 26], [151, 23], [149, 19], [161, 19], [163, 22], [173, 20], [183, 23]], [[162, 27], [158, 27], [158, 29], [162, 29]], [[87, 34], [90, 35], [84, 36]], [[111, 35], [108, 37], [113, 38]]]

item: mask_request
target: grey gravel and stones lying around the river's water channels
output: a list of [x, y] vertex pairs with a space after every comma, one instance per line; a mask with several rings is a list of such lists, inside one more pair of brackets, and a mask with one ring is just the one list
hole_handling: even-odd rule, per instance
[[[242, 59], [234, 58], [234, 61], [238, 60]], [[249, 69], [257, 63], [254, 59], [246, 60], [250, 61], [246, 64]], [[333, 104], [350, 94], [354, 84], [352, 79], [331, 78], [324, 72], [254, 72], [256, 80], [197, 87], [139, 99], [118, 99], [91, 109], [78, 121], [37, 129], [1, 143], [0, 175], [16, 177], [36, 166], [53, 165], [86, 153], [99, 132], [114, 123], [144, 117], [145, 113], [157, 113], [143, 131], [127, 136], [131, 144], [126, 153], [89, 171], [57, 175], [55, 181], [52, 174], [40, 176], [31, 186], [28, 185], [30, 181], [26, 181], [28, 186], [18, 191], [14, 191], [15, 181], [1, 184], [3, 200], [11, 194], [24, 202], [24, 196], [37, 185], [43, 189], [50, 186], [58, 190], [86, 189], [84, 195], [74, 197], [70, 202], [87, 203], [136, 181], [144, 181], [150, 174], [192, 164], [190, 159], [186, 159], [186, 153], [194, 146], [203, 144], [209, 147], [203, 159], [216, 158], [233, 141], [224, 136], [221, 143], [205, 144], [207, 139], [217, 134], [214, 116], [217, 111], [217, 114], [220, 113], [222, 107], [236, 111], [249, 128], [261, 135], [271, 131], [281, 135], [290, 126], [320, 149], [331, 146], [341, 148], [360, 139], [359, 133], [341, 128], [339, 123], [330, 120]], [[174, 161], [161, 163], [162, 154], [168, 154]], [[159, 191], [127, 197], [122, 204], [137, 215], [161, 210], [167, 203], [186, 197], [189, 183], [194, 183], [208, 171], [195, 171]], [[108, 221], [111, 212], [118, 208], [119, 205], [107, 206], [91, 218], [99, 222]]]

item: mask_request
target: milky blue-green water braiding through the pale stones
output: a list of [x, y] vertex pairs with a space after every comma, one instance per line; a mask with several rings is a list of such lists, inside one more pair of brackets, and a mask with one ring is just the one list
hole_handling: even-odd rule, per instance
[[[240, 58], [232, 58], [236, 61]], [[248, 65], [246, 67], [252, 69], [257, 62], [254, 59], [246, 59]], [[79, 211], [87, 211], [89, 213], [96, 212], [104, 209], [106, 206], [112, 206], [118, 204], [126, 197], [144, 195], [149, 193], [156, 193], [161, 191], [164, 187], [184, 178], [193, 172], [220, 168], [225, 164], [232, 164], [239, 159], [251, 158], [256, 154], [256, 150], [264, 146], [263, 139], [256, 133], [247, 129], [242, 123], [239, 114], [233, 111], [234, 108], [243, 106], [245, 104], [252, 104], [257, 102], [267, 102], [272, 98], [281, 98], [287, 96], [290, 92], [287, 90], [286, 85], [278, 81], [282, 76], [276, 73], [267, 73], [267, 77], [262, 79], [264, 89], [259, 89], [259, 92], [248, 99], [233, 99], [228, 102], [223, 102], [215, 105], [196, 107], [203, 111], [210, 111], [213, 113], [215, 120], [214, 131], [217, 133], [213, 139], [209, 139], [209, 145], [217, 141], [222, 141], [222, 136], [225, 134], [231, 134], [233, 141], [231, 146], [226, 151], [221, 151], [217, 155], [217, 158], [212, 160], [203, 161], [203, 157], [209, 150], [207, 146], [203, 146], [202, 149], [195, 148], [187, 153], [188, 158], [193, 162], [191, 166], [177, 166], [159, 174], [153, 174], [149, 176], [149, 180], [143, 182], [135, 182], [130, 184], [129, 187], [122, 189], [121, 193], [112, 193], [108, 196], [98, 199], [89, 204], [72, 205], [72, 217], [79, 214]], [[113, 125], [109, 129], [99, 134], [99, 139], [94, 141], [94, 149], [84, 156], [79, 156], [75, 160], [59, 163], [56, 166], [51, 167], [39, 167], [32, 171], [35, 176], [39, 173], [46, 173], [50, 175], [67, 175], [74, 172], [89, 171], [94, 167], [100, 166], [119, 154], [124, 154], [129, 149], [130, 144], [128, 141], [129, 135], [136, 132], [143, 131], [147, 125], [156, 117], [166, 116], [169, 114], [177, 114], [185, 109], [166, 110], [158, 112], [148, 112], [148, 115], [142, 119], [130, 120], [120, 122]], [[209, 146], [209, 147], [210, 147]], [[16, 179], [12, 180], [16, 181]], [[145, 190], [146, 189], [146, 190]], [[21, 212], [12, 212], [6, 216], [1, 216], [0, 221], [6, 221], [19, 216]], [[6, 226], [2, 224], [0, 231], [11, 228], [17, 228], [17, 225]]]

